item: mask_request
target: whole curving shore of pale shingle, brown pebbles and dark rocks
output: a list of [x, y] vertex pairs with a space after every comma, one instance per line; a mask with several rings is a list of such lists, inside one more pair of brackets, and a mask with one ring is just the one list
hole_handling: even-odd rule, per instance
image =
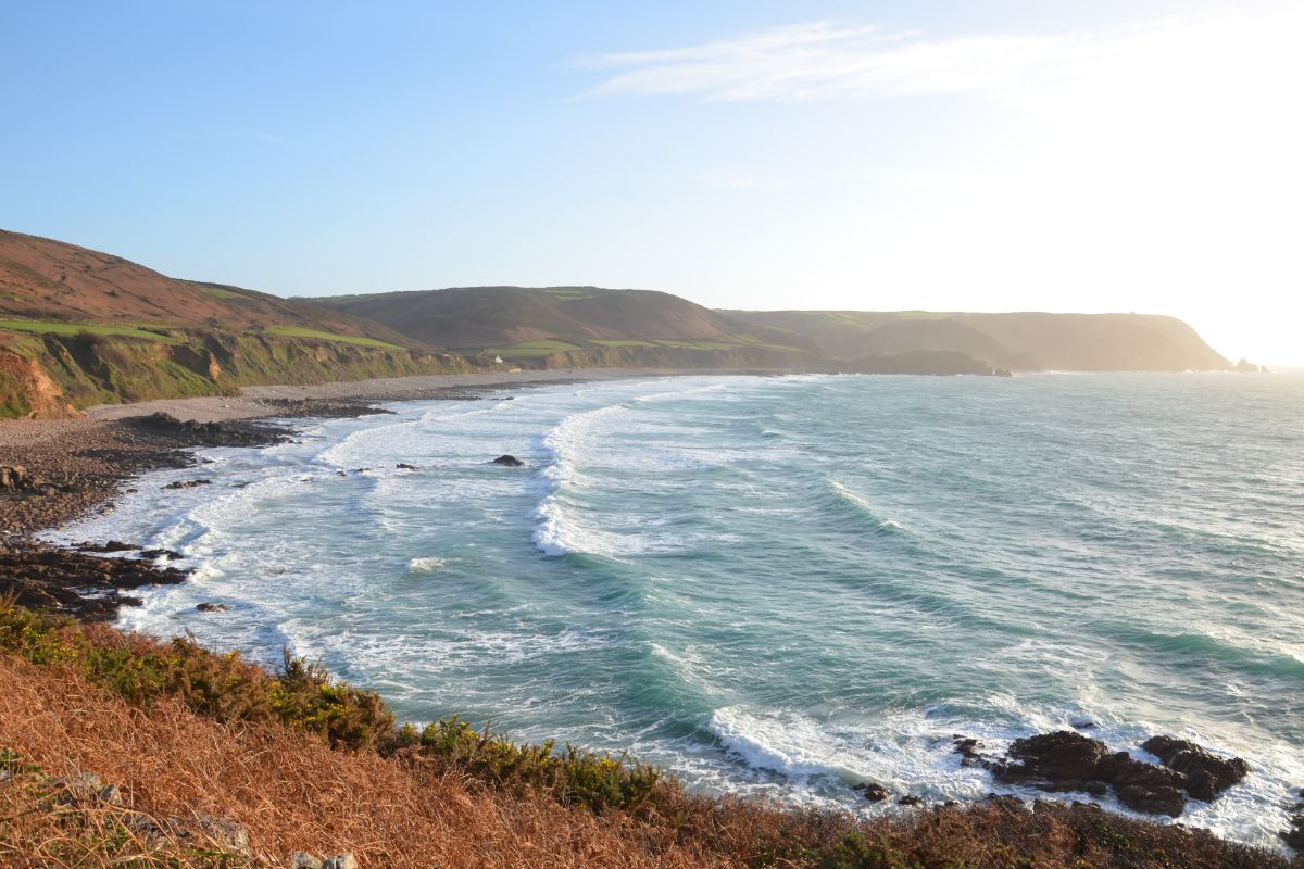
[[503, 371], [263, 386], [241, 396], [99, 405], [77, 420], [0, 421], [0, 597], [82, 621], [113, 621], [121, 607], [141, 603], [130, 591], [184, 582], [189, 572], [167, 564], [172, 552], [123, 541], [60, 546], [37, 534], [112, 511], [115, 498], [134, 492], [134, 481], [150, 470], [201, 468], [197, 448], [263, 447], [295, 435], [269, 420], [361, 417], [390, 413], [377, 406], [390, 401], [456, 401], [497, 390], [677, 374], [686, 373]]

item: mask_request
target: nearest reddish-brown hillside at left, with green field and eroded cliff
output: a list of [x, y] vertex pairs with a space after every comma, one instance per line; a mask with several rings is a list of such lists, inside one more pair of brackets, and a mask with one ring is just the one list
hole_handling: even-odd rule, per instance
[[0, 232], [0, 417], [467, 370], [379, 323]]

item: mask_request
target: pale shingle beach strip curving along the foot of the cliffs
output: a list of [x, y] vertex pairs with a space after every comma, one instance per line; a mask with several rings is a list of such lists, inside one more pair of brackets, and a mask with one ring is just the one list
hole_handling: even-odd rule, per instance
[[[721, 374], [722, 371], [711, 371]], [[201, 399], [160, 399], [136, 404], [102, 404], [86, 410], [90, 420], [125, 420], [151, 413], [170, 413], [177, 420], [220, 422], [287, 416], [287, 403], [353, 399], [363, 401], [407, 401], [439, 399], [449, 393], [484, 388], [511, 388], [576, 380], [615, 380], [640, 377], [670, 377], [694, 371], [662, 369], [552, 369], [546, 371], [502, 371], [486, 374], [430, 374], [381, 378], [313, 386], [250, 386], [240, 396]], [[728, 374], [728, 371], [724, 371]], [[739, 371], [742, 374], [742, 371]]]

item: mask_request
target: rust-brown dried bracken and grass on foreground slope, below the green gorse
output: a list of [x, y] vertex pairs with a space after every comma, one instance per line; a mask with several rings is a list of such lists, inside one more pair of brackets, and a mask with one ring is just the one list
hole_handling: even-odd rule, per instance
[[257, 864], [274, 866], [293, 851], [349, 851], [364, 866], [422, 869], [1304, 869], [1206, 831], [1058, 803], [1029, 810], [994, 800], [855, 822], [665, 787], [638, 817], [595, 813], [546, 790], [492, 787], [415, 750], [333, 750], [303, 730], [224, 724], [170, 697], [132, 705], [72, 667], [4, 655], [0, 748], [50, 775], [93, 771], [126, 797], [120, 809], [60, 809], [0, 783], [4, 869], [243, 865], [196, 855], [203, 843], [194, 838], [124, 839], [115, 823], [124, 813], [189, 829], [198, 816], [228, 818], [249, 831]]

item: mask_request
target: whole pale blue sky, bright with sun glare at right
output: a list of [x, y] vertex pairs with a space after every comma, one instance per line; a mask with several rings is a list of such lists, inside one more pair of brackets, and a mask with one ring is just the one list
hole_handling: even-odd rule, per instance
[[0, 34], [0, 228], [168, 275], [1159, 313], [1304, 363], [1299, 0], [7, 0]]

